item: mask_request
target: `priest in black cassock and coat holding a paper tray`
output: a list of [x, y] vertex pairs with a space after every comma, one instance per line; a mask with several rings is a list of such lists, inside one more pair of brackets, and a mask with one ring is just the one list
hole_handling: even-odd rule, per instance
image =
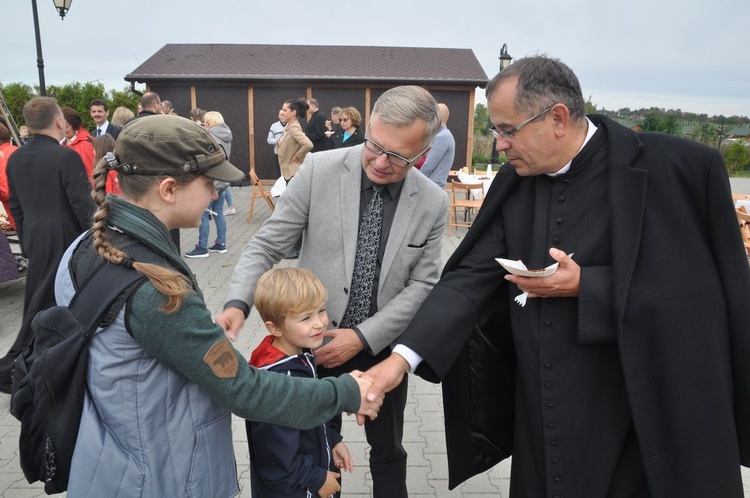
[[450, 487], [512, 453], [513, 496], [742, 497], [750, 269], [720, 154], [585, 116], [547, 57], [487, 103], [508, 163], [373, 391], [443, 381]]

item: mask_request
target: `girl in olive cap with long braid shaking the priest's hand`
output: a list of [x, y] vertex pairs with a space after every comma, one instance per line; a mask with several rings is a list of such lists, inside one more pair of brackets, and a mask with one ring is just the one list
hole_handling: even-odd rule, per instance
[[[106, 194], [110, 170], [121, 196]], [[205, 129], [178, 116], [131, 122], [96, 165], [93, 228], [63, 257], [57, 302], [102, 264], [147, 279], [91, 340], [69, 496], [236, 496], [230, 412], [298, 429], [342, 411], [376, 416], [370, 382], [258, 371], [213, 322], [169, 230], [197, 227], [213, 181], [242, 177]]]

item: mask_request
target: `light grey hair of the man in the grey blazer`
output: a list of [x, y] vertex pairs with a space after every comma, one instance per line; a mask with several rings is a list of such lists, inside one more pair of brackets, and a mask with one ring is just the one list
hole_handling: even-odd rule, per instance
[[383, 122], [409, 126], [417, 120], [427, 124], [423, 145], [426, 147], [440, 129], [440, 111], [430, 92], [420, 86], [397, 86], [386, 91], [375, 102], [372, 114]]

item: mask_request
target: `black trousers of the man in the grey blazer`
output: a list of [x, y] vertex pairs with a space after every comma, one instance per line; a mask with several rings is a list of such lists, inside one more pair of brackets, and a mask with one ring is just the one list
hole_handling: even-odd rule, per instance
[[[337, 377], [352, 370], [367, 370], [390, 356], [390, 348], [373, 356], [365, 351], [336, 368], [318, 367], [320, 377]], [[404, 409], [409, 389], [408, 376], [393, 391], [385, 395], [383, 406], [375, 420], [365, 420], [365, 435], [370, 445], [370, 473], [375, 498], [406, 498], [406, 450], [404, 437]], [[331, 423], [341, 432], [341, 415]], [[344, 439], [346, 441], [346, 439]], [[343, 486], [342, 486], [343, 489]], [[345, 495], [345, 493], [344, 493]]]

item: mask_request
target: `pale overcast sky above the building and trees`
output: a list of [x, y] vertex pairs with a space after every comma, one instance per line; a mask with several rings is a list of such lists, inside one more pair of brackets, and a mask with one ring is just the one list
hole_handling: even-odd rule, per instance
[[[74, 0], [65, 20], [37, 1], [47, 85], [122, 89], [167, 43], [470, 48], [492, 77], [506, 43], [562, 59], [600, 108], [750, 116], [747, 0]], [[0, 14], [0, 82], [38, 84], [31, 2]]]

